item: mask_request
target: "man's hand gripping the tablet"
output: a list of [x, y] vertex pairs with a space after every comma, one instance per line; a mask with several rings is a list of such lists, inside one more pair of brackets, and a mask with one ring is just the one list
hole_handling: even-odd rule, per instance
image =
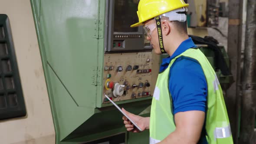
[[[141, 128], [142, 131], [144, 131], [145, 129], [149, 129], [149, 118], [144, 118], [138, 115], [134, 115], [128, 111], [125, 111], [124, 108], [122, 108], [122, 111], [124, 111], [124, 113], [131, 118], [132, 121], [134, 121], [138, 127]], [[132, 123], [131, 121], [128, 120], [128, 118], [126, 118], [125, 116], [123, 116], [123, 120], [124, 120], [124, 124], [125, 124], [125, 128], [127, 129], [127, 131], [132, 131], [132, 132], [140, 132]]]

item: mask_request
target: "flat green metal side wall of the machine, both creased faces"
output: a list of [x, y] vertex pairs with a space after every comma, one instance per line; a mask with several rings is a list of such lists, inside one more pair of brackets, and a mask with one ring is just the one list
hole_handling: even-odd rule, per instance
[[100, 31], [99, 0], [44, 0], [40, 19], [38, 0], [31, 2], [59, 144], [95, 113], [98, 46], [102, 61], [104, 52], [103, 40], [94, 36]]

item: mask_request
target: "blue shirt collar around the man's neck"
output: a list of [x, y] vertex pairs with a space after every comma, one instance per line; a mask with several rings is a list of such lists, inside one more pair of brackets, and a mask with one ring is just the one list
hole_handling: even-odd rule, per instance
[[172, 56], [168, 56], [167, 58], [163, 59], [161, 66], [169, 65], [171, 60], [174, 59], [176, 56], [179, 56], [181, 53], [185, 52], [187, 49], [194, 48], [194, 47], [197, 47], [197, 46], [194, 44], [191, 37], [189, 37], [188, 39], [184, 40], [180, 44], [180, 46], [178, 46], [178, 48], [175, 50]]

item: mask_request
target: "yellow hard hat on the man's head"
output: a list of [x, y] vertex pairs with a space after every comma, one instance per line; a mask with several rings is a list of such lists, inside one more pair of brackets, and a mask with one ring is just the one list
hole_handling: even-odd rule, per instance
[[131, 27], [141, 26], [147, 20], [188, 5], [184, 0], [140, 0], [137, 11], [139, 22]]

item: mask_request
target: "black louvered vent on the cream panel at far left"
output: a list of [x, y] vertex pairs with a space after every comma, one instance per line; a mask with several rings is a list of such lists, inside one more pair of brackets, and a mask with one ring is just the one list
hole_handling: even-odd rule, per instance
[[6, 14], [0, 14], [0, 120], [25, 115], [10, 23]]

